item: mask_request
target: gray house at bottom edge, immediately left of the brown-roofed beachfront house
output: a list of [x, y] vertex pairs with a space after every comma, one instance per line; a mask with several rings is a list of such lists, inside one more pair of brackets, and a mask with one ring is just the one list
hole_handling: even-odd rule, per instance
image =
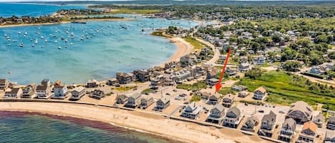
[[284, 142], [291, 142], [295, 130], [296, 130], [296, 121], [291, 118], [286, 119], [283, 125], [281, 126], [278, 139]]

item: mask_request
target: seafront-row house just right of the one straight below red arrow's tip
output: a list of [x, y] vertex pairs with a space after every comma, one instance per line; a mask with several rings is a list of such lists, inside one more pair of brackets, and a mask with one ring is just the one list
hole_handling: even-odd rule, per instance
[[231, 107], [224, 117], [224, 126], [236, 128], [241, 122], [241, 111], [237, 107]]

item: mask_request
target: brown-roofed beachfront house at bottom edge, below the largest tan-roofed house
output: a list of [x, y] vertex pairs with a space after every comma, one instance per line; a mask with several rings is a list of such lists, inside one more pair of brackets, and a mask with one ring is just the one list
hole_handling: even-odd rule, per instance
[[318, 127], [314, 122], [305, 122], [296, 143], [314, 142]]

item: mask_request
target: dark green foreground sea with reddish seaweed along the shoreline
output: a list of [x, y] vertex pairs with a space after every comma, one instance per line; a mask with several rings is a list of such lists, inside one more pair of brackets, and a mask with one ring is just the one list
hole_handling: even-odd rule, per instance
[[24, 112], [0, 112], [0, 142], [168, 143], [171, 139], [104, 122]]

